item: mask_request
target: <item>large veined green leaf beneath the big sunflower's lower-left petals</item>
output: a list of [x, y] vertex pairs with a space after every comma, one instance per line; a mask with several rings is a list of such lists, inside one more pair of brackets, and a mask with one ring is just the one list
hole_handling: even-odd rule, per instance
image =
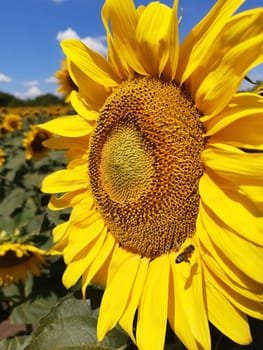
[[116, 349], [127, 343], [128, 336], [118, 328], [98, 343], [96, 325], [97, 311], [91, 309], [89, 301], [66, 297], [40, 320], [27, 350], [70, 349], [84, 345], [93, 346], [88, 349], [103, 349], [103, 346]]

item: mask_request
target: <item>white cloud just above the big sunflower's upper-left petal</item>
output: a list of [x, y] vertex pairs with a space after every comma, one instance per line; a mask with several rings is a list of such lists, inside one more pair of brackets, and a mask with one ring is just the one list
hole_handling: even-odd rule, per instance
[[58, 41], [61, 41], [64, 39], [79, 39], [85, 45], [90, 47], [92, 50], [100, 53], [102, 56], [107, 55], [107, 46], [105, 45], [106, 44], [105, 36], [97, 36], [97, 37], [87, 36], [87, 37], [81, 38], [74, 29], [69, 27], [64, 31], [58, 32], [57, 34]]

